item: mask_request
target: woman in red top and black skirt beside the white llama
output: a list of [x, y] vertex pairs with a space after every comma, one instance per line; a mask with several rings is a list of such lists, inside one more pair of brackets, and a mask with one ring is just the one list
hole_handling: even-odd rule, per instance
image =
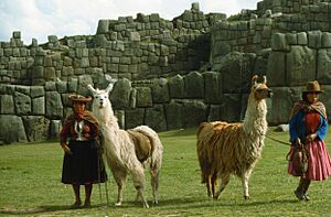
[[99, 127], [92, 112], [86, 110], [86, 102], [92, 100], [90, 97], [71, 95], [70, 99], [73, 101], [74, 113], [66, 119], [60, 132], [60, 143], [65, 153], [62, 183], [73, 186], [73, 208], [82, 205], [79, 187], [84, 185], [84, 207], [89, 207], [93, 184], [106, 182], [98, 142]]

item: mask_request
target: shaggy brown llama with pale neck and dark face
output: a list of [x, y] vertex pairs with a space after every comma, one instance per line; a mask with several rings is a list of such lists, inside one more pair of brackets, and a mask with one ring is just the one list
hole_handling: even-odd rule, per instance
[[[267, 105], [271, 90], [252, 78], [252, 89], [243, 123], [215, 121], [201, 123], [197, 132], [196, 151], [202, 171], [202, 183], [206, 183], [207, 194], [218, 198], [229, 182], [229, 175], [242, 178], [245, 199], [249, 198], [248, 180], [255, 163], [260, 158], [268, 123]], [[221, 185], [216, 191], [217, 180]]]

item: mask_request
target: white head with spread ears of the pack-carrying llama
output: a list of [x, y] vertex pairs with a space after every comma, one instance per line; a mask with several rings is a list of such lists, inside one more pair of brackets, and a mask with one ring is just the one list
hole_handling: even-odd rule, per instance
[[106, 89], [98, 89], [93, 88], [92, 85], [87, 85], [87, 88], [93, 94], [93, 107], [94, 108], [106, 108], [111, 107], [111, 102], [109, 100], [109, 93], [113, 90], [114, 84], [116, 83], [116, 79], [111, 79], [108, 87]]

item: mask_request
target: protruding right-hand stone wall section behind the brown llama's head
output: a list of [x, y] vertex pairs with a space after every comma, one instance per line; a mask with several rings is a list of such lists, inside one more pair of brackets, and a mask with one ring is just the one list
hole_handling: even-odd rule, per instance
[[223, 94], [245, 94], [252, 74], [266, 74], [274, 91], [268, 122], [286, 123], [307, 82], [317, 79], [330, 108], [330, 12], [329, 1], [265, 0], [257, 10], [216, 22], [211, 68], [226, 80]]

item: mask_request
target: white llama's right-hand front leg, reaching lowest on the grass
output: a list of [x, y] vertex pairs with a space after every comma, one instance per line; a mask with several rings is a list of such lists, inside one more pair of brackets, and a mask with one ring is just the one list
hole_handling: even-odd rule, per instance
[[[139, 165], [139, 166], [138, 166]], [[140, 162], [137, 163], [136, 170], [131, 171], [134, 185], [137, 189], [136, 199], [141, 199], [143, 207], [149, 208], [149, 205], [143, 196], [145, 191], [145, 173]]]

